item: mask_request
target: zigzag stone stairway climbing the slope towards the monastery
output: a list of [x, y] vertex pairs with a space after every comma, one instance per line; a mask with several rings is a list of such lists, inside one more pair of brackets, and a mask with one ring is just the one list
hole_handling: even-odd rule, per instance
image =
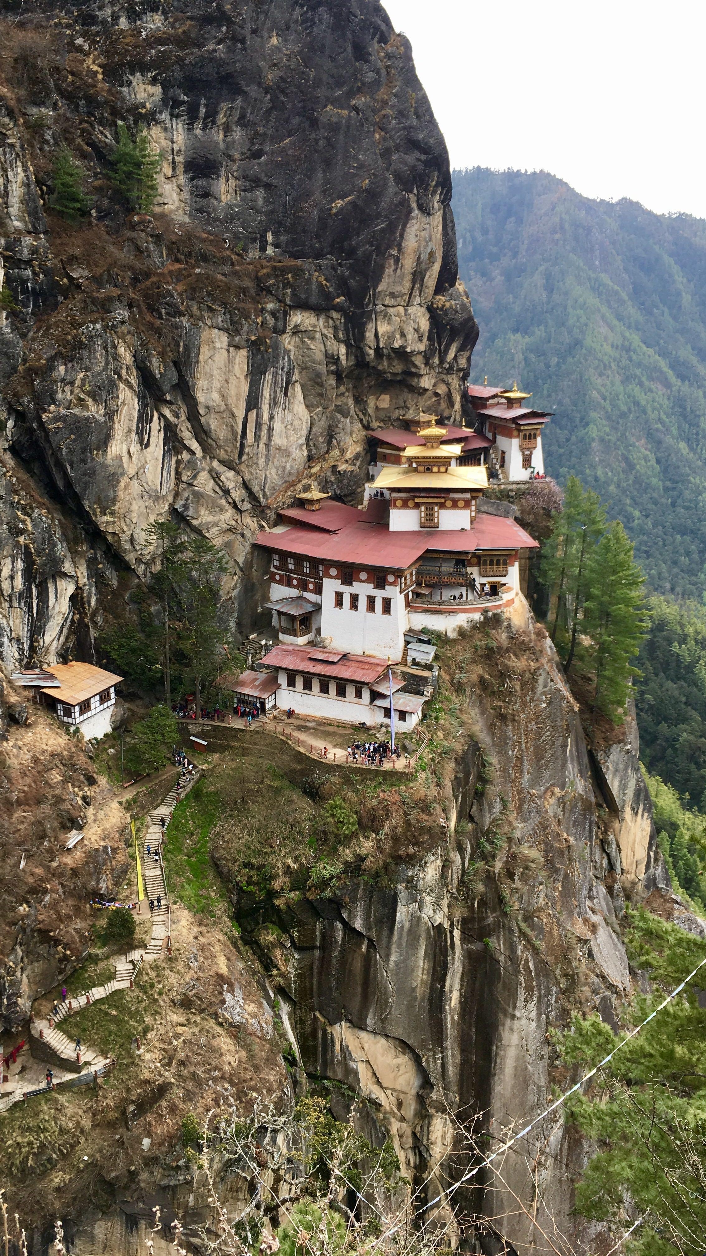
[[162, 843], [175, 806], [188, 794], [200, 775], [200, 771], [193, 775], [182, 772], [163, 803], [149, 813], [147, 831], [142, 839], [144, 892], [149, 902], [152, 923], [149, 942], [118, 956], [114, 961], [114, 977], [104, 986], [94, 986], [82, 995], [57, 1004], [55, 1012], [48, 1017], [31, 1017], [29, 1041], [16, 1053], [16, 1059], [10, 1060], [3, 1069], [0, 1112], [5, 1112], [20, 1099], [44, 1093], [48, 1089], [48, 1069], [54, 1074], [54, 1085], [67, 1081], [78, 1084], [84, 1074], [89, 1080], [106, 1073], [114, 1063], [99, 1051], [83, 1046], [79, 1039], [68, 1037], [59, 1025], [83, 1007], [107, 999], [113, 991], [132, 988], [141, 965], [161, 956], [165, 941], [171, 955], [171, 907], [165, 880]]

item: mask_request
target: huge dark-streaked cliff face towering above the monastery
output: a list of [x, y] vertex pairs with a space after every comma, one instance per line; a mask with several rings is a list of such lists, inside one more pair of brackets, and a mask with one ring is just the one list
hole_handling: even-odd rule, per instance
[[[16, 664], [90, 637], [155, 520], [227, 549], [235, 614], [274, 505], [313, 480], [353, 497], [366, 428], [460, 416], [477, 329], [443, 141], [377, 0], [38, 0], [6, 35], [5, 442], [55, 507], [44, 541], [16, 494], [4, 512]], [[118, 121], [162, 153], [153, 217], [111, 192]], [[95, 198], [79, 225], [41, 203], [62, 143]]]

